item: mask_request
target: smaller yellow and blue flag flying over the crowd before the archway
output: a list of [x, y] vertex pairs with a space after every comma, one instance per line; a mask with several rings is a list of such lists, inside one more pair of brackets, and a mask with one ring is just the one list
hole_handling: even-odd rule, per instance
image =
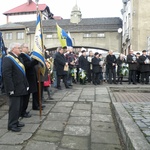
[[63, 30], [62, 28], [60, 28], [58, 26], [58, 24], [56, 24], [57, 27], [57, 35], [60, 41], [60, 44], [62, 47], [65, 46], [73, 46], [72, 45], [72, 39], [69, 37], [69, 35], [65, 32], [65, 30]]

